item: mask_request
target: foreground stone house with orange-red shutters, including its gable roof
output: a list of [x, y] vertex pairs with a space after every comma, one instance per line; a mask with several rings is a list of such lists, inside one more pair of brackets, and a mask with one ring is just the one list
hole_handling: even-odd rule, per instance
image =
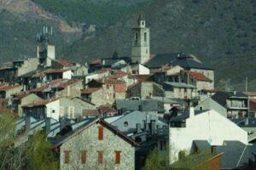
[[102, 119], [87, 123], [55, 144], [61, 169], [135, 169], [138, 144]]

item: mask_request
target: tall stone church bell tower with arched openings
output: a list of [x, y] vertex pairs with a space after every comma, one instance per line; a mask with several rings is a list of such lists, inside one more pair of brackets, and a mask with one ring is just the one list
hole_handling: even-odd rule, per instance
[[150, 57], [149, 28], [146, 27], [146, 20], [140, 14], [137, 20], [137, 27], [132, 29], [132, 63], [143, 64]]

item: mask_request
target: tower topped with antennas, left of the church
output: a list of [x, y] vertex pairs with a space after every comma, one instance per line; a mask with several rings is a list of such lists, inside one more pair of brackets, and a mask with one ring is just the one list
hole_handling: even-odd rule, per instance
[[37, 34], [37, 56], [40, 67], [51, 66], [52, 59], [55, 59], [55, 46], [50, 45], [52, 37], [52, 27], [44, 26], [43, 31]]

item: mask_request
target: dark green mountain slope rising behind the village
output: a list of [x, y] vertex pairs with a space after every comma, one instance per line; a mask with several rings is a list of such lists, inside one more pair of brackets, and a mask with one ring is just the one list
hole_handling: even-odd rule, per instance
[[129, 56], [139, 13], [150, 27], [151, 54], [195, 54], [216, 68], [217, 80], [243, 89], [248, 77], [256, 89], [253, 0], [0, 0], [0, 57], [34, 56], [44, 25], [54, 27], [57, 54], [67, 59], [84, 62], [114, 50]]

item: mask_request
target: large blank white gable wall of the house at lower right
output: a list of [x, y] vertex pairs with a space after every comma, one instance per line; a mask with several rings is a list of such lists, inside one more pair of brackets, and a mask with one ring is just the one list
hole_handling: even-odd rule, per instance
[[[224, 140], [241, 141], [247, 144], [247, 132], [220, 115], [206, 111], [186, 119], [186, 127], [170, 127], [170, 159], [177, 158], [180, 150], [191, 151], [193, 140], [207, 140], [211, 145], [222, 145]], [[171, 160], [171, 161], [172, 161]]]

